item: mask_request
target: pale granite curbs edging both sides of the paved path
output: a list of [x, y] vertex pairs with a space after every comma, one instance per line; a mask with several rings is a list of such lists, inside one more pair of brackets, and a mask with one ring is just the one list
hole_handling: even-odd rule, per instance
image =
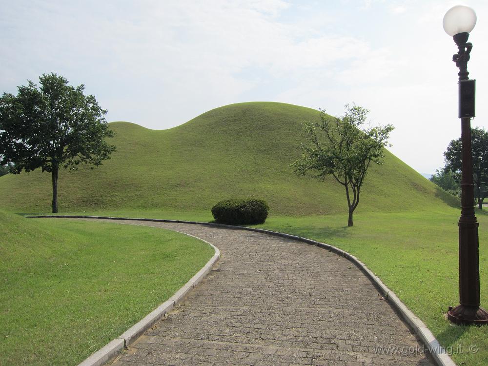
[[[452, 359], [447, 354], [446, 349], [439, 344], [439, 342], [434, 337], [434, 335], [432, 334], [432, 332], [427, 328], [427, 325], [425, 325], [424, 322], [422, 322], [417, 316], [415, 316], [415, 314], [411, 310], [409, 310], [407, 308], [407, 306], [402, 301], [400, 301], [400, 299], [396, 296], [396, 294], [393, 291], [391, 291], [380, 280], [380, 278], [378, 276], [376, 276], [366, 266], [366, 264], [364, 264], [363, 262], [361, 262], [355, 256], [353, 256], [353, 255], [347, 253], [346, 251], [344, 251], [342, 249], [339, 249], [339, 248], [337, 248], [337, 247], [335, 247], [333, 245], [329, 245], [329, 244], [317, 242], [315, 240], [311, 240], [311, 239], [307, 239], [307, 238], [302, 238], [302, 237], [299, 237], [299, 236], [296, 236], [296, 235], [290, 235], [290, 234], [280, 233], [280, 232], [277, 232], [277, 231], [271, 231], [271, 230], [265, 230], [265, 229], [257, 229], [257, 228], [253, 228], [253, 227], [247, 227], [247, 226], [237, 226], [237, 225], [227, 225], [227, 224], [206, 223], [206, 222], [198, 222], [198, 221], [166, 220], [166, 219], [144, 219], [144, 218], [124, 218], [124, 217], [107, 217], [107, 216], [81, 216], [81, 215], [42, 215], [42, 216], [28, 216], [28, 217], [31, 217], [31, 218], [105, 219], [105, 220], [121, 220], [121, 221], [124, 221], [125, 220], [125, 221], [151, 221], [151, 222], [162, 222], [162, 223], [200, 224], [200, 225], [224, 227], [224, 228], [228, 228], [228, 229], [241, 229], [241, 230], [254, 231], [254, 232], [264, 233], [264, 234], [273, 235], [273, 236], [279, 236], [279, 237], [283, 237], [283, 238], [287, 238], [287, 239], [292, 239], [292, 240], [300, 241], [300, 242], [303, 242], [303, 243], [306, 243], [306, 244], [310, 244], [310, 245], [322, 247], [322, 248], [327, 249], [327, 250], [329, 250], [329, 251], [331, 251], [331, 252], [333, 252], [333, 253], [335, 253], [337, 255], [340, 255], [341, 257], [346, 258], [347, 260], [349, 260], [350, 262], [352, 262], [353, 264], [355, 264], [366, 275], [366, 277], [377, 287], [378, 291], [380, 292], [380, 294], [383, 295], [383, 297], [385, 298], [385, 300], [388, 301], [388, 303], [393, 307], [393, 309], [395, 309], [397, 311], [397, 313], [399, 313], [401, 315], [401, 317], [405, 320], [405, 322], [407, 323], [407, 325], [420, 338], [420, 340], [422, 341], [422, 343], [424, 344], [424, 346], [426, 347], [426, 349], [428, 350], [428, 352], [431, 354], [432, 358], [434, 359], [435, 363], [438, 366], [456, 366], [456, 364], [452, 361]], [[185, 234], [185, 235], [189, 235], [189, 234]], [[189, 235], [189, 236], [193, 236], [193, 235]], [[195, 237], [195, 238], [200, 239], [198, 237]], [[200, 240], [202, 240], [202, 239], [200, 239]], [[204, 242], [207, 243], [207, 244], [210, 244], [210, 243], [208, 243], [206, 241], [204, 241]], [[219, 249], [217, 249], [212, 244], [210, 244], [210, 245], [215, 248], [216, 255], [214, 255], [214, 257], [212, 257], [212, 259], [202, 268], [202, 270], [200, 272], [202, 272], [203, 269], [210, 262], [212, 262], [216, 256], [217, 256], [217, 259], [220, 257]], [[218, 253], [218, 255], [217, 255], [217, 253]], [[215, 262], [217, 261], [217, 259], [215, 260]], [[213, 262], [213, 264], [215, 264], [215, 262]], [[205, 274], [203, 274], [202, 277], [205, 276], [208, 273], [208, 271], [210, 270], [211, 266], [208, 268], [208, 270], [206, 272], [203, 271]], [[197, 275], [199, 275], [200, 272], [198, 272]], [[194, 278], [197, 277], [197, 275], [195, 275]], [[183, 296], [191, 288], [194, 287], [194, 285], [193, 286], [190, 286], [190, 287], [187, 286], [188, 284], [190, 284], [192, 282], [192, 280], [193, 280], [193, 278], [190, 281], [188, 281], [188, 283], [185, 286], [183, 286], [175, 295], [173, 295], [173, 297], [176, 296], [177, 294], [179, 294], [181, 292], [181, 294], [180, 294], [180, 296], [181, 296], [180, 297], [180, 301], [181, 301], [181, 299], [183, 298]], [[168, 301], [171, 301], [171, 299], [168, 300]], [[175, 304], [177, 304], [177, 303], [175, 302]], [[163, 306], [163, 305], [161, 305], [161, 306]], [[168, 310], [168, 311], [170, 311], [170, 310]], [[149, 314], [146, 318], [148, 318], [151, 314]], [[146, 318], [144, 318], [144, 319], [146, 319]], [[137, 325], [139, 325], [140, 323], [142, 323], [144, 321], [144, 319], [141, 322], [139, 322], [138, 324], [134, 325], [129, 330], [127, 330], [123, 335], [125, 335], [131, 329], [135, 328]], [[154, 323], [155, 322], [153, 322], [150, 325], [148, 325], [147, 328], [145, 328], [144, 330], [142, 330], [142, 332], [145, 331], [146, 329], [148, 329]], [[140, 334], [142, 334], [142, 332]], [[132, 337], [130, 339], [133, 342], [135, 339], [137, 339], [137, 337], [135, 337], [135, 338]], [[120, 338], [122, 338], [122, 336], [119, 337], [119, 339]], [[108, 345], [106, 345], [105, 347], [103, 347], [99, 351], [95, 352], [92, 356], [95, 356], [97, 353], [101, 352], [105, 348], [107, 348], [106, 349], [106, 352], [112, 352], [111, 351], [111, 348], [109, 347], [109, 345], [111, 345], [112, 343], [116, 342], [119, 339], [113, 340]], [[127, 344], [125, 344], [125, 346], [127, 346]], [[122, 349], [123, 349], [123, 347], [122, 347]], [[119, 350], [119, 352], [120, 352], [120, 350]], [[117, 352], [113, 353], [113, 355], [111, 357], [109, 357], [108, 359], [105, 358], [104, 359], [105, 361], [101, 361], [101, 363], [85, 364], [85, 362], [89, 358], [92, 357], [92, 356], [90, 356], [88, 359], [86, 359], [85, 361], [83, 361], [79, 366], [89, 366], [89, 365], [93, 365], [93, 366], [97, 365], [98, 366], [98, 365], [103, 365], [103, 363], [107, 362], [110, 358], [112, 358], [116, 354], [117, 354]], [[100, 355], [98, 357], [100, 357]]]

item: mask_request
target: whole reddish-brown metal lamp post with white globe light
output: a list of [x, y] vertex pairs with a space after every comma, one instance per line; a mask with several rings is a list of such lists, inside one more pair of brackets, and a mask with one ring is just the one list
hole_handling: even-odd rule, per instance
[[476, 24], [476, 13], [468, 6], [456, 5], [444, 16], [443, 27], [454, 39], [458, 53], [452, 57], [459, 67], [459, 118], [461, 118], [462, 182], [459, 218], [459, 303], [449, 306], [447, 318], [456, 324], [488, 324], [488, 312], [480, 307], [480, 269], [478, 226], [474, 212], [471, 118], [475, 110], [475, 80], [468, 78], [469, 32]]

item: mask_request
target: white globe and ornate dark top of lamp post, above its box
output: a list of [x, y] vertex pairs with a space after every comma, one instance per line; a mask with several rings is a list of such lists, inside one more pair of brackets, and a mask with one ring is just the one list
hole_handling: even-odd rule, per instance
[[469, 53], [473, 45], [468, 42], [469, 32], [476, 25], [476, 13], [469, 6], [456, 5], [447, 10], [442, 26], [446, 33], [454, 39], [458, 46], [458, 53], [452, 56], [452, 61], [459, 67], [459, 80], [468, 80]]

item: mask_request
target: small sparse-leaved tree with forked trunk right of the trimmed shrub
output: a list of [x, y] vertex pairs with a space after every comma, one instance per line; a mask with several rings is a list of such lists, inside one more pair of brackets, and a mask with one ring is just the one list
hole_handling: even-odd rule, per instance
[[347, 226], [352, 226], [367, 170], [371, 163], [383, 163], [383, 148], [393, 126], [366, 126], [369, 110], [356, 105], [345, 107], [342, 118], [331, 118], [321, 110], [320, 122], [304, 122], [303, 155], [292, 167], [300, 175], [309, 171], [321, 179], [332, 175], [342, 184], [349, 207]]

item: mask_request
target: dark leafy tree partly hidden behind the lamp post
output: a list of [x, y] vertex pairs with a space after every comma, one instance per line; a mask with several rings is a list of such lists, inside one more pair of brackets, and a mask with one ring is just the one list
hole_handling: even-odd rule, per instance
[[[480, 210], [488, 197], [488, 132], [471, 128], [471, 153], [473, 156], [473, 183], [475, 199]], [[444, 153], [445, 171], [459, 173], [462, 166], [461, 138], [452, 140]]]

